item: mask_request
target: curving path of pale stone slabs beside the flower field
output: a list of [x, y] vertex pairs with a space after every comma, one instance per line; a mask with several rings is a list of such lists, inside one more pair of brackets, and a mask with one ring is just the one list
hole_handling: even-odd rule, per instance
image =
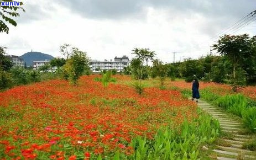
[[250, 141], [252, 137], [243, 134], [244, 129], [239, 118], [203, 100], [198, 100], [197, 105], [213, 118], [220, 121], [222, 131], [227, 132], [229, 135], [223, 139], [222, 145], [216, 146], [216, 149], [213, 150], [216, 154], [216, 159], [256, 159], [256, 152], [242, 149], [243, 143]]

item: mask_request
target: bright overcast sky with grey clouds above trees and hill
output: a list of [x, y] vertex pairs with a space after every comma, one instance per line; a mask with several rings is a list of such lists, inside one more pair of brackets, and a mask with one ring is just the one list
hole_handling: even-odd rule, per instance
[[[256, 9], [254, 0], [23, 2], [26, 12], [18, 25], [9, 25], [9, 34], [0, 33], [0, 46], [11, 55], [33, 49], [57, 57], [66, 43], [97, 60], [132, 57], [134, 47], [146, 47], [163, 62], [173, 62], [173, 52], [175, 61], [207, 55], [222, 34], [256, 35], [256, 15], [244, 18]], [[241, 25], [233, 25], [242, 18]]]

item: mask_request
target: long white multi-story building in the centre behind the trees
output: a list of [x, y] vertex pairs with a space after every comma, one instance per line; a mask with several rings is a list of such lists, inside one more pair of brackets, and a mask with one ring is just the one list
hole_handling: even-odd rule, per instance
[[114, 61], [104, 60], [104, 61], [97, 61], [97, 60], [90, 60], [89, 66], [92, 72], [101, 72], [102, 70], [117, 70], [117, 72], [123, 71], [124, 67], [129, 66], [129, 58], [127, 56], [123, 57], [115, 57]]

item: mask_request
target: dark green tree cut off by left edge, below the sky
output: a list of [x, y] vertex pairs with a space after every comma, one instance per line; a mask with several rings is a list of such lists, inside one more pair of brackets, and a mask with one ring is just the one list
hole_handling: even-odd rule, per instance
[[13, 67], [11, 58], [6, 56], [6, 47], [0, 46], [0, 71], [9, 71]]

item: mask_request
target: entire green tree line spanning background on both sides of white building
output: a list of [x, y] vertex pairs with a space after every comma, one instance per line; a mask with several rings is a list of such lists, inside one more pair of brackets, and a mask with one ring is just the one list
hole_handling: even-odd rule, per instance
[[[50, 78], [58, 75], [72, 84], [77, 84], [82, 74], [91, 74], [86, 52], [68, 44], [60, 46], [60, 52], [65, 58], [54, 58], [50, 65], [40, 68], [41, 72], [12, 68], [12, 62], [4, 49], [0, 47], [0, 88], [9, 88], [9, 84], [13, 82], [17, 85], [38, 82], [41, 72], [48, 76], [50, 74]], [[163, 63], [155, 58], [154, 51], [134, 48], [132, 54], [135, 57], [121, 73], [138, 79], [140, 86], [143, 79], [156, 77], [160, 78], [161, 87], [164, 87], [166, 77], [173, 81], [184, 78], [186, 82], [191, 82], [198, 78], [201, 81], [230, 83], [234, 91], [239, 86], [256, 84], [256, 36], [224, 35], [213, 45], [213, 50], [220, 56], [207, 55], [197, 60], [187, 58], [184, 62]], [[152, 66], [148, 65], [149, 61], [153, 63]], [[56, 72], [48, 73], [51, 67], [57, 67]]]

